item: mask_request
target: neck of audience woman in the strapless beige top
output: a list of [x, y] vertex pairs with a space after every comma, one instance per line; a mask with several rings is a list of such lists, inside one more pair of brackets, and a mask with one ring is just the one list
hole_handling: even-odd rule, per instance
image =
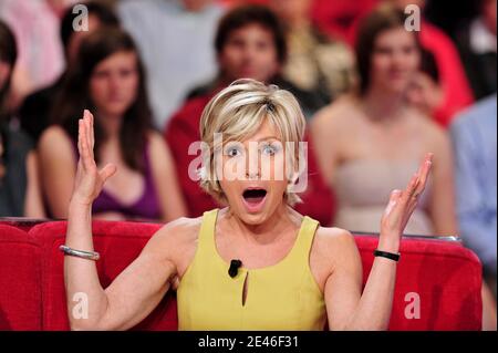
[[376, 122], [391, 123], [405, 108], [403, 94], [385, 92], [382, 89], [370, 89], [363, 97], [366, 115]]

